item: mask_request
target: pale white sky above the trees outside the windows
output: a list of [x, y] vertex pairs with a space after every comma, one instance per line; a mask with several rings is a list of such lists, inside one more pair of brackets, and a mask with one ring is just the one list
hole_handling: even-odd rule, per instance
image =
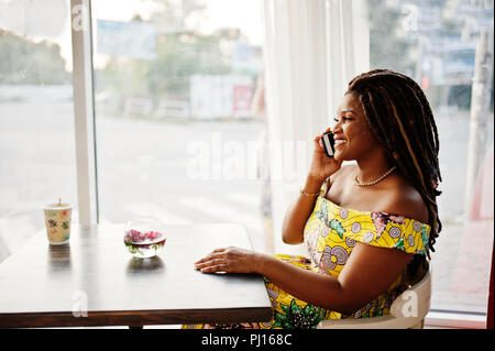
[[[67, 69], [72, 69], [69, 3], [69, 0], [0, 0], [0, 29], [35, 41], [58, 43]], [[198, 30], [210, 33], [218, 28], [240, 28], [251, 44], [262, 45], [262, 0], [206, 0], [205, 3], [208, 6], [206, 21], [197, 25]], [[135, 13], [146, 19], [151, 4], [146, 0], [94, 0], [94, 19], [129, 21]]]

